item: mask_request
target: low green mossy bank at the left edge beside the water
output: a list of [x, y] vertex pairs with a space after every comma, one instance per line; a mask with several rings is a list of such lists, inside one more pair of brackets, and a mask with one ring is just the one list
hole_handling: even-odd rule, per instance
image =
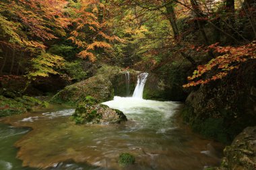
[[7, 98], [0, 95], [0, 117], [11, 116], [13, 114], [23, 114], [34, 110], [35, 107], [47, 108], [49, 103], [40, 101], [34, 97], [22, 96]]

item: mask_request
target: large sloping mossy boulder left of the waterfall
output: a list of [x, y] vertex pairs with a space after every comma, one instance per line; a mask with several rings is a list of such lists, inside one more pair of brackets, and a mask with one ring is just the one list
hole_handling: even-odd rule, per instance
[[[65, 103], [68, 105], [76, 105], [83, 101], [86, 96], [91, 95], [99, 102], [113, 99], [114, 91], [119, 87], [125, 87], [124, 83], [116, 83], [116, 79], [122, 77], [125, 79], [126, 71], [119, 67], [110, 67], [104, 65], [98, 70], [94, 77], [90, 77], [85, 81], [75, 83], [65, 87], [59, 91], [52, 99], [54, 103]], [[137, 74], [135, 71], [130, 71], [132, 75]], [[119, 95], [115, 93], [115, 95]]]

